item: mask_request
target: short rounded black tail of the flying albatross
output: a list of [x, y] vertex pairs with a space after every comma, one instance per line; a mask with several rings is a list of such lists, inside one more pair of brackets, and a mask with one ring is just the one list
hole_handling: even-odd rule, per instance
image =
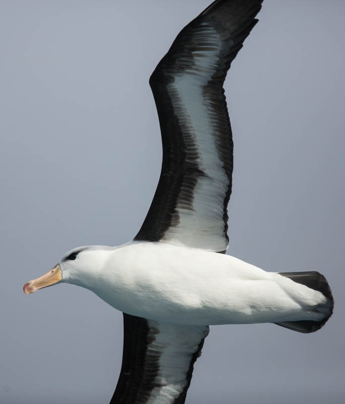
[[290, 278], [294, 282], [302, 283], [303, 285], [306, 285], [311, 289], [321, 292], [327, 298], [327, 302], [319, 309], [320, 311], [327, 313], [327, 316], [321, 321], [284, 321], [275, 324], [280, 325], [281, 327], [289, 328], [290, 330], [304, 333], [315, 332], [323, 327], [326, 321], [332, 315], [334, 307], [334, 299], [326, 278], [319, 272], [315, 271], [279, 272], [279, 274], [281, 276], [285, 276], [286, 278]]

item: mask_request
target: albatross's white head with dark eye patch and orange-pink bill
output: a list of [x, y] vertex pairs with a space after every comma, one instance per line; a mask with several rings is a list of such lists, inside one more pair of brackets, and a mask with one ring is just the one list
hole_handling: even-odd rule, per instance
[[107, 258], [107, 250], [97, 246], [74, 248], [63, 255], [58, 264], [39, 278], [33, 279], [23, 287], [25, 294], [56, 283], [73, 283], [92, 288], [97, 273]]

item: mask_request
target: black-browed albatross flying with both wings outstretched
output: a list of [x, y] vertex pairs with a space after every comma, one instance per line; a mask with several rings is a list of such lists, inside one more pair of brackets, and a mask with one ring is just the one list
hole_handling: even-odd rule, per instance
[[333, 311], [318, 272], [266, 272], [225, 255], [233, 138], [226, 73], [257, 23], [260, 0], [216, 0], [178, 34], [150, 77], [161, 174], [133, 240], [83, 246], [24, 285], [87, 288], [123, 312], [111, 404], [183, 404], [209, 325], [275, 323], [319, 330]]

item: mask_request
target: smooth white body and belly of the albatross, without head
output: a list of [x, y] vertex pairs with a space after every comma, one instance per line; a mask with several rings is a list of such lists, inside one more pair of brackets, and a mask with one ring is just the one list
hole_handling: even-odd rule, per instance
[[187, 325], [320, 320], [310, 307], [325, 302], [234, 257], [160, 242], [114, 249], [89, 288], [125, 313]]

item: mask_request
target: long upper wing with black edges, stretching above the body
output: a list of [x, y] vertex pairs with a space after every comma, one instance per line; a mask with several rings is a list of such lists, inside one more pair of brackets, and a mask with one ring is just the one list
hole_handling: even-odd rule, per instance
[[233, 139], [222, 85], [261, 3], [215, 1], [179, 33], [152, 73], [163, 161], [135, 240], [226, 250]]

